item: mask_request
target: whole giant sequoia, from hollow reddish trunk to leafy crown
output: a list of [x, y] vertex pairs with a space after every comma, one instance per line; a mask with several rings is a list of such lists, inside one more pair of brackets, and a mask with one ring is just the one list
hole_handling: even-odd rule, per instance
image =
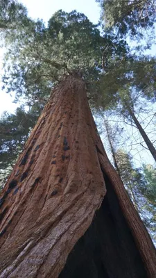
[[[155, 277], [155, 247], [88, 104], [109, 37], [76, 11], [17, 27], [4, 30], [4, 85], [34, 102], [53, 90], [1, 193], [0, 277]], [[114, 44], [120, 60], [126, 44]]]

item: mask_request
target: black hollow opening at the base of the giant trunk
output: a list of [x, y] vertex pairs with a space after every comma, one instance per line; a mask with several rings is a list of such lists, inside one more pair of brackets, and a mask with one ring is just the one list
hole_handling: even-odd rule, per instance
[[147, 273], [110, 181], [86, 233], [73, 247], [59, 278], [146, 278]]

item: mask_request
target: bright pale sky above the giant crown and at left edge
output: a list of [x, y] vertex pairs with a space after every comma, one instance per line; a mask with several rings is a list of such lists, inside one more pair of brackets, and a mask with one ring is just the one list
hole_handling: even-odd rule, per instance
[[[71, 10], [78, 10], [78, 12], [87, 15], [89, 20], [94, 24], [98, 23], [98, 19], [100, 17], [100, 7], [95, 0], [22, 0], [20, 2], [26, 6], [30, 17], [33, 19], [43, 19], [44, 22], [47, 22], [53, 13], [60, 9], [66, 11], [67, 13], [71, 12]], [[2, 67], [2, 58], [3, 49], [0, 49], [0, 70]], [[11, 95], [12, 97], [1, 90], [0, 83], [0, 116], [3, 111], [13, 113], [17, 106], [19, 106], [19, 104], [12, 103], [13, 94]]]

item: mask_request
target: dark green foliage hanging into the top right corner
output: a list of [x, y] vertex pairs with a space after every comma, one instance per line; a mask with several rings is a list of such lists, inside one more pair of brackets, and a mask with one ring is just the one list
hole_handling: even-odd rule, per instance
[[143, 36], [154, 26], [155, 0], [96, 0], [101, 4], [105, 28], [115, 27], [121, 35]]

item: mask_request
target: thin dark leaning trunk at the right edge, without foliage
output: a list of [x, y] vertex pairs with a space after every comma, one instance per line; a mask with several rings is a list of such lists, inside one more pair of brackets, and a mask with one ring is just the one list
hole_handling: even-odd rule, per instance
[[142, 138], [144, 139], [144, 141], [146, 142], [146, 145], [148, 146], [148, 149], [150, 151], [150, 153], [152, 154], [153, 158], [156, 161], [156, 149], [153, 146], [153, 143], [150, 142], [150, 139], [148, 138], [146, 132], [144, 131], [144, 129], [142, 128], [141, 124], [139, 123], [139, 121], [137, 120], [137, 117], [135, 117], [135, 114], [132, 112], [132, 109], [130, 109], [130, 107], [128, 107], [128, 111], [130, 113], [130, 116], [132, 117], [132, 120], [135, 122], [137, 129], [139, 130], [139, 133], [141, 134]]

